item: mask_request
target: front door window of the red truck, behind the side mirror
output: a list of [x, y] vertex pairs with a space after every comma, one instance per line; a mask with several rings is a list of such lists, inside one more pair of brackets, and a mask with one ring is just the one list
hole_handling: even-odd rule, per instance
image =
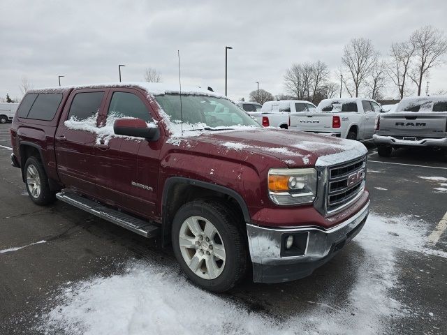
[[138, 96], [128, 92], [115, 92], [110, 101], [108, 110], [108, 117], [135, 117], [137, 119], [145, 120], [146, 122], [153, 121], [145, 104]]

